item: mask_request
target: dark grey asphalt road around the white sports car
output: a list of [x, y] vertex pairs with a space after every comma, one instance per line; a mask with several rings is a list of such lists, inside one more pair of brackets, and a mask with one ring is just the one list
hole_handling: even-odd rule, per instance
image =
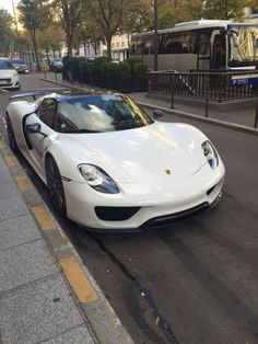
[[[37, 76], [22, 82], [50, 87]], [[4, 137], [7, 104], [0, 93]], [[258, 343], [258, 137], [164, 119], [194, 124], [216, 146], [226, 177], [215, 208], [130, 234], [91, 233], [58, 220], [136, 343]], [[46, 187], [20, 159], [49, 205]]]

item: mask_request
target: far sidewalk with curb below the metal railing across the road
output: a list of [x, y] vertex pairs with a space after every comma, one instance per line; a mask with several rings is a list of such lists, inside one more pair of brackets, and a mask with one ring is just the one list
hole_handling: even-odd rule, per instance
[[[44, 73], [39, 74], [39, 79], [43, 81], [67, 85], [75, 87], [81, 89], [80, 83], [69, 83], [62, 82], [61, 73], [46, 72], [46, 79]], [[56, 80], [57, 79], [57, 80]], [[92, 89], [92, 87], [84, 85], [83, 89]], [[247, 131], [250, 134], [258, 135], [258, 128], [255, 128], [256, 119], [256, 100], [248, 102], [246, 104], [233, 102], [233, 108], [225, 108], [224, 111], [218, 111], [214, 104], [209, 104], [208, 118], [204, 117], [206, 114], [206, 103], [204, 102], [192, 102], [191, 100], [178, 100], [175, 98], [174, 108], [171, 108], [171, 96], [169, 95], [157, 95], [148, 94], [144, 92], [132, 92], [130, 96], [143, 107], [149, 108], [160, 108], [166, 113], [174, 115], [179, 115], [196, 121], [208, 122], [214, 125], [224, 126], [231, 129]], [[214, 108], [215, 107], [215, 108]], [[223, 107], [223, 106], [222, 106]]]

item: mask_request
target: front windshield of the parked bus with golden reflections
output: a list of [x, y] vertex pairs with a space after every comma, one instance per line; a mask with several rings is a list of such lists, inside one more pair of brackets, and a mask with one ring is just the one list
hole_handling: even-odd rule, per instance
[[230, 25], [228, 66], [255, 66], [258, 61], [258, 25]]

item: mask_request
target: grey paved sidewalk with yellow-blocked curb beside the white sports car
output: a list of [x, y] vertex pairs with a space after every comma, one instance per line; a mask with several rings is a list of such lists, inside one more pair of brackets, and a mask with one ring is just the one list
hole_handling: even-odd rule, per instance
[[132, 343], [0, 137], [0, 343]]

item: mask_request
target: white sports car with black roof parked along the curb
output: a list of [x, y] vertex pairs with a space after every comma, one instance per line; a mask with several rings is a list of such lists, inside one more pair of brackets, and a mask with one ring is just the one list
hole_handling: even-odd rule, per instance
[[46, 89], [12, 99], [28, 95], [34, 100], [8, 105], [10, 146], [48, 186], [55, 208], [75, 222], [160, 227], [220, 199], [224, 165], [197, 128], [159, 122], [159, 111], [152, 119], [119, 93]]

